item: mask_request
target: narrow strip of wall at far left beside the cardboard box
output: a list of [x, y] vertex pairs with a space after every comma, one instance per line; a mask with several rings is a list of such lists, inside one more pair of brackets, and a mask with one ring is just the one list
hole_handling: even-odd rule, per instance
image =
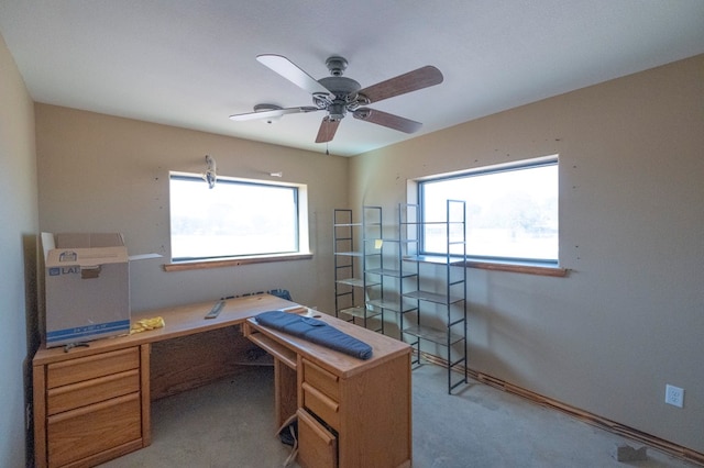
[[36, 343], [36, 158], [32, 99], [0, 36], [0, 466], [25, 466], [25, 403]]

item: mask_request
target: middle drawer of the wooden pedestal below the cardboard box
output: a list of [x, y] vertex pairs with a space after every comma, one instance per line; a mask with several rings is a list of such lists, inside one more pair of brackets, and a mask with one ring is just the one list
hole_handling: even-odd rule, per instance
[[140, 391], [139, 369], [56, 387], [47, 391], [46, 414], [51, 416], [138, 391]]

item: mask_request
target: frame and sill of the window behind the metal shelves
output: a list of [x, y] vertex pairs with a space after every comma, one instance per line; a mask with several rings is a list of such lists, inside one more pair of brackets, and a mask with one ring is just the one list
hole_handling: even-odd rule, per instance
[[[546, 167], [546, 166], [556, 166], [559, 171], [559, 167], [560, 167], [559, 154], [536, 157], [530, 159], [522, 159], [522, 160], [512, 161], [507, 164], [491, 165], [491, 166], [484, 166], [479, 168], [416, 178], [409, 181], [408, 201], [410, 203], [418, 204], [420, 221], [424, 222], [426, 221], [425, 220], [426, 213], [425, 213], [425, 200], [424, 200], [424, 185], [427, 182], [459, 179], [459, 178], [472, 177], [472, 176], [501, 174], [506, 171], [530, 169], [530, 168]], [[558, 180], [558, 203], [560, 198], [559, 183], [560, 181]], [[560, 209], [558, 205], [558, 220], [560, 214], [559, 211]], [[419, 235], [420, 235], [419, 252], [424, 255], [438, 255], [437, 253], [426, 252], [425, 249], [426, 239], [424, 238], [425, 233], [422, 232], [422, 230], [420, 231]], [[468, 242], [470, 242], [470, 239], [468, 239]], [[562, 277], [568, 275], [568, 270], [560, 267], [559, 244], [560, 244], [560, 230], [558, 227], [558, 253], [557, 253], [556, 259], [534, 259], [534, 258], [520, 258], [520, 257], [496, 257], [496, 256], [490, 256], [490, 255], [486, 255], [486, 256], [468, 255], [465, 266], [469, 268], [481, 268], [481, 269], [501, 270], [501, 271], [516, 271], [516, 272], [527, 272], [527, 274]]]

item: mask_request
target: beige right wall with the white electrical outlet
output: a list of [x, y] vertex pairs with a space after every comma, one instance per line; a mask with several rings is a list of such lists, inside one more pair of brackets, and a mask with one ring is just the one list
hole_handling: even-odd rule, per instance
[[704, 56], [355, 157], [350, 201], [551, 154], [571, 274], [470, 269], [470, 367], [703, 453]]

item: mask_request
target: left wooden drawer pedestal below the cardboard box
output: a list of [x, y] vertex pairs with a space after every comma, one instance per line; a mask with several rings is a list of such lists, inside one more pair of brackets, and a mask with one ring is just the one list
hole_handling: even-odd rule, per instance
[[34, 368], [37, 467], [95, 466], [150, 445], [148, 348]]

